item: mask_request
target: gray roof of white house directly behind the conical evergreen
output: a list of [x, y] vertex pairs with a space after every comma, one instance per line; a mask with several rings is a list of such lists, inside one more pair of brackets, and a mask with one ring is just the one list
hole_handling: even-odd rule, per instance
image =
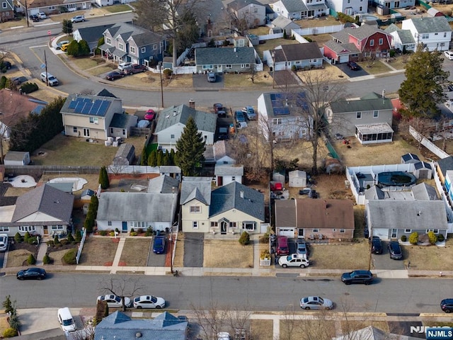
[[195, 119], [195, 124], [199, 131], [215, 132], [217, 115], [214, 113], [197, 111], [184, 104], [181, 104], [180, 106], [171, 106], [164, 109], [164, 111], [161, 111], [161, 113], [159, 113], [155, 132], [161, 132], [178, 123], [185, 125], [190, 116]]

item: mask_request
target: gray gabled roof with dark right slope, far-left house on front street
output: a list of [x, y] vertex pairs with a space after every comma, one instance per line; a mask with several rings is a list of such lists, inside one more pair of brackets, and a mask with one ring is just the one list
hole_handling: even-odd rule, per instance
[[18, 222], [35, 212], [42, 212], [61, 220], [62, 222], [58, 222], [58, 224], [69, 224], [73, 204], [74, 196], [71, 194], [64, 193], [52, 186], [38, 186], [18, 197], [12, 222]]

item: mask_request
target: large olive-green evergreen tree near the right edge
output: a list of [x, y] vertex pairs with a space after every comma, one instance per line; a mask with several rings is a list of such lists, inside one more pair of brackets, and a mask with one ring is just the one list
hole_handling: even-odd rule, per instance
[[440, 51], [429, 52], [423, 44], [411, 55], [406, 64], [406, 80], [398, 90], [401, 101], [410, 117], [435, 118], [439, 115], [437, 104], [444, 101], [445, 84], [449, 72], [442, 69], [444, 58]]

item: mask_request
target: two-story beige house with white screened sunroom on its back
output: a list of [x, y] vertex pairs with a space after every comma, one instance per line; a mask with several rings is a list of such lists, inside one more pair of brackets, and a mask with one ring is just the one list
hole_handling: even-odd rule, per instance
[[333, 101], [326, 108], [326, 118], [331, 135], [355, 136], [362, 145], [393, 140], [393, 105], [377, 94]]

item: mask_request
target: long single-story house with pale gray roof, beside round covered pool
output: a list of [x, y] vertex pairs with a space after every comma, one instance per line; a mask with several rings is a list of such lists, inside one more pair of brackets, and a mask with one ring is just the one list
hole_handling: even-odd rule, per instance
[[447, 239], [447, 214], [442, 200], [368, 200], [365, 220], [369, 235], [385, 241], [430, 231]]

